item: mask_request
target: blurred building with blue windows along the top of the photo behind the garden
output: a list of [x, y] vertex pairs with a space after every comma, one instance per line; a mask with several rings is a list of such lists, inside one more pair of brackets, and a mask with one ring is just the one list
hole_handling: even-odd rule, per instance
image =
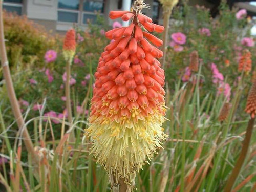
[[[102, 15], [109, 25], [112, 20], [108, 14], [110, 10], [129, 10], [131, 0], [4, 0], [3, 7], [7, 11], [19, 15], [27, 15], [29, 19], [44, 25], [46, 29], [66, 31], [73, 24], [86, 28], [88, 20], [94, 23], [97, 14]], [[221, 0], [189, 0], [190, 5], [204, 5], [210, 9], [212, 16], [218, 15]], [[249, 15], [256, 16], [256, 1], [228, 0], [229, 6], [247, 9]], [[161, 23], [161, 5], [158, 0], [145, 0], [151, 9], [144, 9], [143, 13], [153, 18], [155, 23]], [[254, 4], [253, 4], [254, 3]], [[119, 20], [121, 22], [121, 20]]]

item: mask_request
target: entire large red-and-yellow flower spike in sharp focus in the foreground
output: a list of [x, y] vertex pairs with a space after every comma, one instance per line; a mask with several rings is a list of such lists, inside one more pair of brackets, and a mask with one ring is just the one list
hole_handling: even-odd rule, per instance
[[[126, 191], [135, 188], [136, 173], [162, 148], [165, 121], [163, 52], [155, 46], [162, 40], [163, 26], [152, 23], [135, 1], [132, 11], [111, 11], [110, 18], [131, 20], [131, 25], [106, 32], [112, 42], [101, 54], [93, 90], [90, 127], [93, 153], [110, 175], [112, 189], [124, 181]], [[150, 41], [150, 42], [148, 42]], [[155, 45], [155, 46], [154, 46]]]

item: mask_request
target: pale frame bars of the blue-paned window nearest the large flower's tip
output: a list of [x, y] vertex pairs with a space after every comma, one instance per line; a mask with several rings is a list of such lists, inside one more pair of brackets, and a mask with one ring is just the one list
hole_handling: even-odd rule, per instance
[[[103, 3], [104, 3], [104, 0], [102, 0]], [[105, 6], [105, 4], [104, 4]], [[77, 22], [75, 24], [78, 24], [80, 26], [87, 26], [88, 24], [85, 24], [83, 23], [84, 20], [83, 20], [83, 15], [84, 14], [88, 14], [88, 15], [97, 15], [95, 12], [90, 12], [90, 11], [83, 11], [83, 0], [80, 0], [79, 1], [79, 10], [73, 10], [73, 9], [63, 9], [63, 8], [58, 8], [58, 12], [59, 11], [62, 11], [62, 12], [69, 12], [69, 13], [78, 13], [78, 17], [77, 17]], [[104, 15], [104, 13], [100, 13], [101, 16]], [[58, 23], [59, 24], [64, 24], [64, 25], [71, 25], [71, 24], [74, 24], [74, 23], [71, 23], [71, 22], [63, 22], [63, 21], [60, 21], [59, 18], [57, 18], [58, 20]]]

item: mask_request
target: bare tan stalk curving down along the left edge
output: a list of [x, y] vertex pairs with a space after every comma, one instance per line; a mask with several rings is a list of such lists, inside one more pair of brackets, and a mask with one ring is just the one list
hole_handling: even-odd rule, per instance
[[28, 133], [27, 127], [25, 126], [25, 121], [22, 116], [22, 112], [20, 111], [18, 100], [13, 87], [13, 82], [11, 79], [11, 72], [9, 68], [9, 63], [8, 63], [7, 54], [6, 54], [6, 47], [5, 47], [2, 1], [0, 1], [0, 18], [1, 18], [0, 19], [0, 57], [1, 57], [1, 64], [3, 68], [3, 74], [6, 82], [7, 94], [11, 103], [12, 112], [14, 114], [17, 125], [19, 127], [19, 131], [22, 134], [27, 151], [31, 153], [32, 160], [34, 161], [34, 163], [37, 164], [39, 162], [39, 158], [34, 151], [33, 143]]

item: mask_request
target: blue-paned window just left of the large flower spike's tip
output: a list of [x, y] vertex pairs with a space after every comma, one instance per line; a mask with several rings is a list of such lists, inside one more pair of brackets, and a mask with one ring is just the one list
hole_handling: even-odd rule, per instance
[[104, 0], [58, 0], [58, 21], [87, 24], [96, 22], [96, 12], [104, 12]]

